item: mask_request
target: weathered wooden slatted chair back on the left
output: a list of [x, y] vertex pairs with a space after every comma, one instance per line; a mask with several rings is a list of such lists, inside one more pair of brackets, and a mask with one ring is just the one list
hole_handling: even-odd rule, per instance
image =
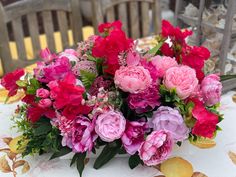
[[[73, 40], [82, 40], [82, 18], [80, 14], [79, 0], [21, 0], [16, 3], [2, 6], [0, 3], [0, 58], [4, 72], [10, 72], [16, 68], [22, 68], [35, 63], [36, 59], [28, 60], [26, 46], [24, 44], [24, 32], [28, 30], [31, 37], [34, 58], [37, 57], [41, 47], [39, 41], [39, 18], [41, 18], [47, 46], [55, 51], [54, 29], [56, 14], [63, 48], [68, 47], [68, 29], [72, 29]], [[27, 21], [22, 23], [22, 19]], [[13, 60], [9, 48], [9, 26], [12, 27], [14, 41], [18, 53], [18, 59]]]

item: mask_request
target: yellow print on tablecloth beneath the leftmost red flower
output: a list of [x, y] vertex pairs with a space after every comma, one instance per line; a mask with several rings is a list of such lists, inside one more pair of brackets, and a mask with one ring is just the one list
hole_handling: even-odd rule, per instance
[[[4, 103], [7, 99], [8, 91], [6, 89], [0, 89], [0, 103]], [[10, 97], [7, 104], [20, 101], [25, 96], [23, 91], [18, 91], [17, 94], [13, 97]]]

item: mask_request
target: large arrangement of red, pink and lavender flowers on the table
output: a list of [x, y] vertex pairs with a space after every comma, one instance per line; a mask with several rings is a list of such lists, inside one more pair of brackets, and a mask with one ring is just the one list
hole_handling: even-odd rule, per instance
[[162, 163], [185, 140], [216, 136], [222, 84], [203, 72], [209, 51], [189, 46], [192, 32], [168, 21], [157, 45], [141, 52], [121, 28], [120, 21], [101, 24], [101, 35], [76, 50], [42, 50], [33, 75], [18, 69], [2, 78], [9, 97], [25, 92], [13, 118], [23, 156], [73, 152], [81, 175], [98, 149], [95, 169], [117, 154], [128, 154], [135, 168]]

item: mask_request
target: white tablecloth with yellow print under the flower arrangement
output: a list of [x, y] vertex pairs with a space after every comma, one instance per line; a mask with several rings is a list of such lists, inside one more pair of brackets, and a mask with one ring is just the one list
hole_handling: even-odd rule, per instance
[[[216, 137], [216, 146], [210, 149], [199, 149], [188, 142], [178, 148], [173, 156], [180, 156], [189, 161], [194, 171], [200, 171], [208, 177], [236, 177], [236, 165], [231, 161], [228, 152], [236, 152], [236, 104], [232, 101], [234, 92], [229, 92], [222, 97], [222, 112], [224, 121], [220, 123], [223, 131]], [[3, 137], [15, 137], [16, 130], [11, 129], [10, 121], [17, 103], [0, 104], [0, 149], [5, 146], [1, 141]], [[4, 156], [0, 152], [0, 158]], [[21, 172], [17, 177], [73, 177], [79, 176], [75, 167], [69, 167], [70, 160], [56, 159], [48, 161], [49, 155], [26, 157], [30, 171], [24, 175]], [[134, 170], [128, 167], [127, 158], [115, 158], [99, 170], [92, 168], [94, 160], [90, 159], [83, 177], [154, 177], [161, 174], [154, 168], [138, 166]], [[13, 177], [12, 173], [0, 172], [0, 177]]]

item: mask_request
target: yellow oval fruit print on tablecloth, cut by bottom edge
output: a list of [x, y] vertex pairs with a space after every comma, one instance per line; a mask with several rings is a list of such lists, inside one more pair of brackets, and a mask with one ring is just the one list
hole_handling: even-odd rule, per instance
[[192, 165], [181, 157], [173, 157], [161, 164], [161, 172], [166, 177], [191, 177]]

